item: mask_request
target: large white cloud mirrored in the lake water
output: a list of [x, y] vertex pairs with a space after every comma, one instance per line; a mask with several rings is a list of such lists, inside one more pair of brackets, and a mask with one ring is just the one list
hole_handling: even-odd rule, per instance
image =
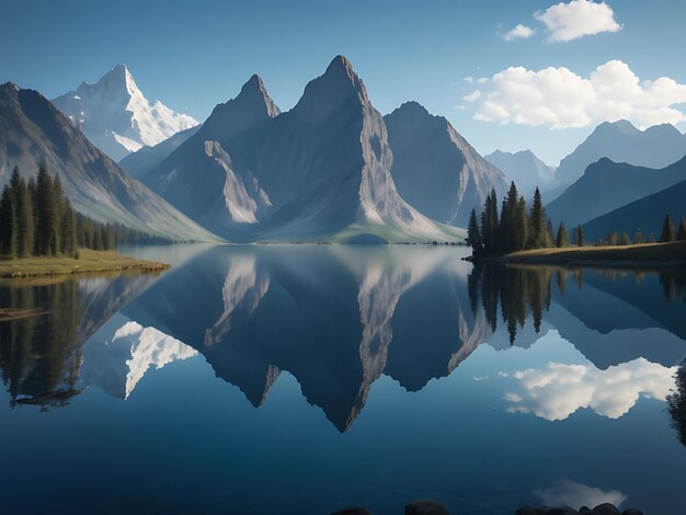
[[608, 419], [627, 413], [643, 393], [664, 400], [674, 387], [676, 367], [638, 358], [599, 370], [593, 365], [549, 363], [545, 368], [513, 374], [517, 390], [505, 393], [511, 413], [534, 413], [549, 421], [564, 420], [582, 408]]

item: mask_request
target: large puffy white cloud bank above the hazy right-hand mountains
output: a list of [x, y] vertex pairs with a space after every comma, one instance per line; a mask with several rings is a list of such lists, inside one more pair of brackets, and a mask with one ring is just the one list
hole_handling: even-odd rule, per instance
[[[502, 124], [585, 127], [629, 119], [639, 127], [686, 122], [686, 84], [668, 77], [643, 80], [626, 62], [610, 60], [587, 78], [569, 68], [507, 68], [482, 88], [475, 118]], [[473, 93], [472, 93], [473, 94]]]

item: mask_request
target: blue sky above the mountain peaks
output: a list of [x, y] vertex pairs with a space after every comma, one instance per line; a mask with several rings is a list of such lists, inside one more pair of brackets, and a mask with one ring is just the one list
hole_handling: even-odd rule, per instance
[[[678, 111], [679, 102], [686, 103], [686, 87], [682, 88], [686, 83], [686, 2], [607, 0], [620, 30], [549, 42], [552, 32], [534, 14], [539, 12], [540, 18], [554, 3], [7, 1], [0, 19], [4, 42], [0, 47], [0, 81], [13, 81], [54, 98], [76, 89], [82, 80], [94, 82], [124, 62], [149, 99], [202, 121], [215, 104], [235, 96], [253, 72], [262, 76], [275, 102], [287, 110], [297, 102], [305, 84], [321, 75], [335, 55], [343, 54], [381, 113], [416, 100], [450, 119], [481, 153], [496, 148], [531, 148], [557, 164], [597, 122], [625, 112], [631, 113], [629, 117], [637, 125], [678, 122], [677, 126], [686, 129]], [[535, 33], [528, 38], [504, 41], [506, 32], [517, 24]], [[582, 94], [584, 88], [574, 85], [573, 78], [570, 81], [564, 75], [552, 73], [550, 82], [548, 76], [531, 76], [548, 67], [565, 67], [583, 81], [613, 60], [626, 65], [608, 72], [616, 77], [621, 68], [625, 73], [617, 79], [620, 82], [631, 82], [628, 69], [639, 78], [639, 84], [660, 77], [668, 77], [673, 83], [627, 92], [625, 102], [608, 111], [616, 90], [605, 91], [607, 80], [598, 81], [601, 93], [593, 93], [591, 100]], [[522, 70], [518, 79], [506, 73], [506, 83], [495, 85], [493, 76], [510, 67], [523, 67], [531, 73]], [[475, 82], [467, 82], [466, 77]], [[488, 81], [478, 83], [479, 78]], [[529, 79], [534, 82], [524, 87], [533, 85], [545, 100], [531, 104], [529, 99], [527, 105], [518, 105], [512, 91], [521, 91], [523, 84], [517, 80]], [[562, 88], [556, 87], [554, 80], [561, 80]], [[569, 91], [562, 94], [564, 85]], [[628, 89], [633, 87], [628, 84]], [[477, 90], [479, 99], [464, 100]], [[483, 104], [489, 93], [495, 94], [494, 107]], [[578, 111], [560, 112], [575, 103], [576, 96]], [[550, 113], [547, 103], [552, 106]], [[643, 103], [649, 111], [642, 110]], [[631, 105], [637, 110], [631, 111]], [[675, 105], [677, 112], [665, 111]], [[475, 119], [478, 113], [489, 121]], [[565, 128], [552, 128], [556, 124]]]

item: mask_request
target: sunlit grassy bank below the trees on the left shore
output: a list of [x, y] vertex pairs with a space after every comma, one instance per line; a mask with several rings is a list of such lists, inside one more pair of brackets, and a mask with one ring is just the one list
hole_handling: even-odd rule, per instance
[[0, 278], [36, 277], [94, 272], [119, 272], [129, 270], [163, 271], [170, 265], [153, 261], [136, 260], [112, 251], [79, 249], [79, 259], [32, 256], [0, 261]]

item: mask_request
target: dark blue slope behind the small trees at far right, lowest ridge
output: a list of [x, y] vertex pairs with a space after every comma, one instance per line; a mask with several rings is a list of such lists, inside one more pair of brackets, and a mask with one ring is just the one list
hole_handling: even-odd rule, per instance
[[614, 230], [620, 234], [626, 231], [633, 239], [636, 230], [640, 228], [645, 239], [650, 232], [659, 239], [667, 213], [675, 225], [682, 217], [686, 217], [685, 199], [686, 180], [588, 221], [584, 226], [584, 233], [590, 241]]

